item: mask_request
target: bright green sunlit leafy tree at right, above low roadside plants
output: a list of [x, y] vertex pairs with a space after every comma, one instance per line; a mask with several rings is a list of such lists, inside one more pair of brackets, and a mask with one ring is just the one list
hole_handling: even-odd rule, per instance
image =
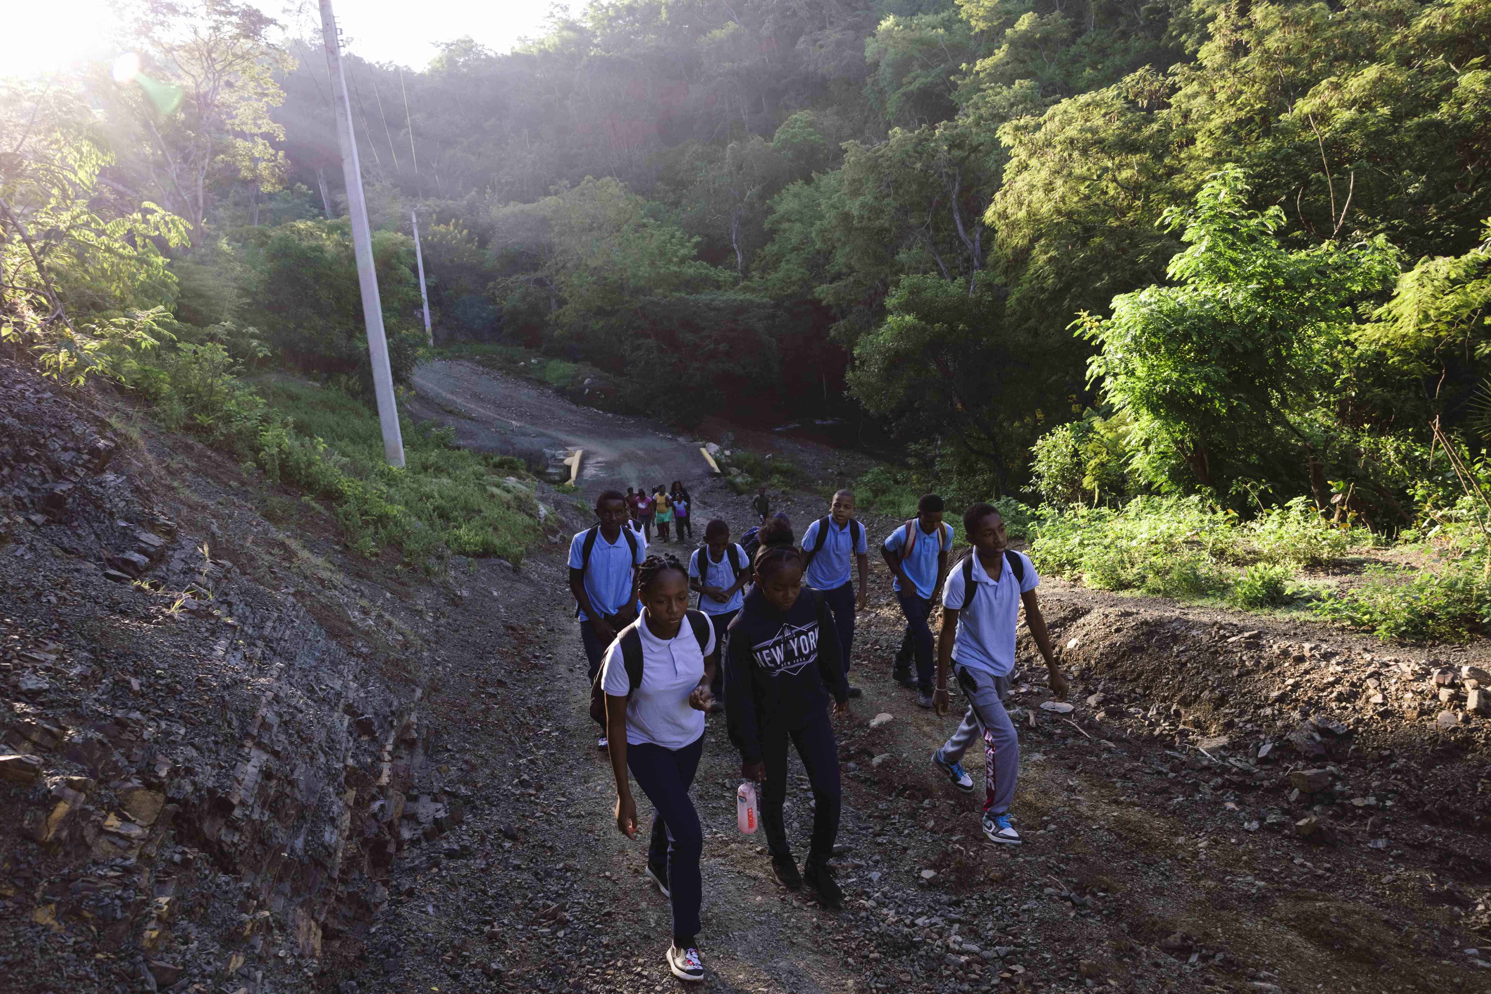
[[1077, 326], [1100, 346], [1088, 373], [1133, 419], [1135, 465], [1153, 484], [1175, 486], [1179, 458], [1218, 495], [1252, 480], [1308, 486], [1324, 505], [1339, 431], [1320, 411], [1354, 307], [1382, 292], [1399, 256], [1384, 238], [1290, 250], [1284, 212], [1251, 210], [1246, 195], [1241, 170], [1214, 174], [1194, 209], [1166, 213], [1188, 246], [1170, 259], [1175, 285], [1118, 295], [1112, 317]]

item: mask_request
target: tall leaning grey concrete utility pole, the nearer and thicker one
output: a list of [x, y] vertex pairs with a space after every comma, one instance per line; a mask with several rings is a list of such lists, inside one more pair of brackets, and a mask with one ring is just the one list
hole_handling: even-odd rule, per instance
[[327, 73], [331, 76], [331, 98], [337, 109], [341, 173], [347, 182], [347, 215], [352, 218], [352, 249], [358, 259], [358, 285], [362, 288], [362, 319], [368, 329], [377, 420], [383, 428], [383, 456], [388, 465], [403, 466], [404, 437], [398, 431], [394, 373], [388, 365], [388, 335], [383, 334], [383, 303], [377, 295], [377, 273], [373, 268], [373, 229], [368, 225], [368, 204], [362, 195], [362, 168], [358, 165], [358, 143], [352, 137], [352, 104], [347, 103], [347, 80], [341, 75], [341, 45], [337, 39], [337, 19], [331, 13], [331, 0], [321, 0], [321, 33], [327, 43]]

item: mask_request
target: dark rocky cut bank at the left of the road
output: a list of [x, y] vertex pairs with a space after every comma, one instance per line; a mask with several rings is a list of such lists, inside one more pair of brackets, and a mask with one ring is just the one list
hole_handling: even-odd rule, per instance
[[0, 975], [28, 978], [4, 987], [313, 972], [461, 818], [414, 639], [234, 563], [242, 523], [224, 541], [94, 407], [0, 362]]

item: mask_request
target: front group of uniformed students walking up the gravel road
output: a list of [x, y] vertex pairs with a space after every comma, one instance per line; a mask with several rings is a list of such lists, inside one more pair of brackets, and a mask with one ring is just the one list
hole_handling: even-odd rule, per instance
[[[689, 788], [708, 714], [725, 711], [741, 775], [762, 785], [760, 824], [778, 882], [805, 887], [829, 908], [842, 902], [829, 866], [841, 809], [829, 709], [844, 715], [859, 696], [848, 669], [854, 614], [866, 608], [865, 528], [854, 519], [854, 495], [841, 490], [829, 514], [804, 531], [801, 545], [783, 514], [741, 542], [731, 542], [723, 520], [711, 520], [704, 544], [684, 563], [672, 554], [647, 554], [646, 542], [626, 528], [625, 495], [607, 490], [595, 514], [598, 525], [571, 542], [570, 589], [589, 662], [592, 715], [604, 724], [599, 745], [608, 750], [616, 778], [616, 826], [635, 838], [631, 772], [656, 809], [646, 873], [672, 908], [666, 961], [674, 976], [699, 981], [704, 833]], [[972, 791], [962, 757], [983, 738], [983, 830], [992, 842], [1018, 845], [1009, 820], [1018, 739], [1003, 700], [1021, 604], [1053, 693], [1065, 696], [1066, 680], [1036, 602], [1039, 577], [1024, 554], [1008, 548], [999, 511], [981, 502], [968, 508], [963, 531], [971, 550], [951, 566], [953, 529], [942, 514], [941, 498], [927, 495], [917, 517], [881, 542], [907, 621], [892, 674], [915, 687], [918, 703], [938, 715], [948, 712], [947, 680], [954, 674], [969, 706], [932, 763], [959, 790]], [[698, 595], [698, 610], [690, 608], [690, 595]], [[927, 618], [938, 596], [942, 624], [933, 666]], [[814, 799], [801, 872], [783, 824], [789, 745], [807, 769]]]

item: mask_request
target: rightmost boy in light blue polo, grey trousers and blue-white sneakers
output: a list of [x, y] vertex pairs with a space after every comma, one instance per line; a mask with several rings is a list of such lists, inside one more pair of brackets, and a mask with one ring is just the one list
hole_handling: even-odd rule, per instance
[[953, 738], [932, 754], [932, 763], [959, 790], [972, 791], [974, 779], [962, 759], [974, 739], [983, 736], [984, 836], [990, 842], [1020, 845], [1020, 833], [1009, 823], [1009, 803], [1020, 773], [1020, 739], [1005, 711], [1005, 699], [1015, 668], [1015, 624], [1021, 604], [1030, 636], [1051, 674], [1051, 693], [1065, 697], [1068, 684], [1056, 666], [1051, 635], [1036, 601], [1041, 577], [1027, 556], [1008, 547], [1003, 516], [992, 504], [974, 504], [963, 513], [963, 534], [972, 548], [942, 584], [932, 706], [938, 715], [947, 714], [947, 672], [953, 669], [968, 696], [968, 714]]

